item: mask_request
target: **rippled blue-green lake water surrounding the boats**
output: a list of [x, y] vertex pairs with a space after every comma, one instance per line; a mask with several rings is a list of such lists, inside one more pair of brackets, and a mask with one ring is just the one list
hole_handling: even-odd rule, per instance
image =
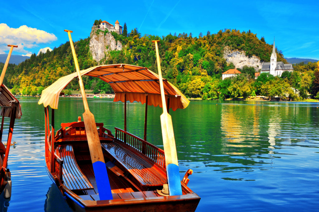
[[[20, 97], [8, 166], [12, 196], [3, 211], [70, 211], [44, 163], [44, 109], [38, 98]], [[123, 128], [122, 102], [88, 99], [96, 122]], [[204, 211], [318, 211], [319, 108], [317, 103], [191, 101], [170, 111], [181, 178]], [[127, 130], [143, 138], [145, 105], [127, 104]], [[82, 99], [61, 98], [55, 125], [76, 121]], [[148, 107], [147, 140], [163, 148], [159, 116]], [[9, 119], [5, 119], [9, 125]], [[7, 132], [4, 132], [4, 139]]]

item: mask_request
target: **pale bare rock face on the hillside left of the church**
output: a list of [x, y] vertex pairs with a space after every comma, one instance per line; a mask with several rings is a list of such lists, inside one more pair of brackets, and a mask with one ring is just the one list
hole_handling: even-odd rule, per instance
[[254, 67], [257, 72], [261, 68], [261, 62], [258, 57], [252, 56], [249, 58], [244, 51], [231, 51], [228, 46], [224, 48], [224, 58], [227, 63], [233, 63], [235, 68], [242, 68], [247, 65], [249, 67]]

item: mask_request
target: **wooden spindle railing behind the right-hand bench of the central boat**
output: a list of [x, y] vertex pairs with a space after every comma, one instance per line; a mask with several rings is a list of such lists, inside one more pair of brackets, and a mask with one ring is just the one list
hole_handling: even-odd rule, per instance
[[115, 139], [120, 140], [152, 159], [159, 166], [166, 168], [164, 151], [153, 144], [115, 127]]

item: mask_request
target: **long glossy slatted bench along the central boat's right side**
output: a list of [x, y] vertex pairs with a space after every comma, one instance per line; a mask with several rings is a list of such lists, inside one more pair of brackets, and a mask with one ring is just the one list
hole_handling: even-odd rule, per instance
[[119, 141], [101, 143], [101, 146], [121, 163], [142, 186], [162, 186], [167, 183], [166, 172], [135, 149]]

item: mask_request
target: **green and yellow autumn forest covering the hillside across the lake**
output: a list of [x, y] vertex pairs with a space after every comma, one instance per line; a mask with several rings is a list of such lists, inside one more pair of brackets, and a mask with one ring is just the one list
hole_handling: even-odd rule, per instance
[[[126, 30], [126, 31], [125, 31]], [[125, 32], [125, 33], [124, 33]], [[110, 33], [110, 32], [108, 32]], [[293, 72], [284, 72], [281, 77], [262, 73], [255, 79], [255, 70], [244, 66], [236, 77], [221, 79], [222, 72], [234, 68], [223, 58], [224, 48], [242, 50], [246, 56], [257, 56], [269, 62], [272, 45], [256, 34], [237, 29], [224, 29], [216, 34], [209, 31], [203, 35], [168, 34], [167, 36], [141, 35], [137, 28], [127, 33], [124, 24], [123, 34], [112, 32], [115, 40], [122, 42], [121, 51], [109, 51], [99, 62], [93, 60], [89, 51], [90, 37], [74, 42], [81, 70], [98, 64], [133, 64], [147, 67], [157, 73], [155, 46], [152, 40], [159, 40], [159, 54], [163, 77], [178, 87], [189, 98], [227, 99], [248, 96], [279, 96], [292, 100], [308, 97], [319, 98], [319, 71], [316, 63], [293, 65]], [[277, 61], [287, 63], [283, 53], [276, 48]], [[4, 66], [0, 63], [0, 69]], [[70, 42], [61, 44], [52, 51], [33, 54], [19, 65], [10, 64], [4, 84], [16, 95], [41, 95], [45, 87], [58, 78], [75, 72]], [[84, 76], [85, 89], [93, 93], [112, 93], [108, 83]], [[78, 81], [72, 80], [64, 90], [70, 94], [78, 90]], [[298, 95], [299, 94], [299, 95]]]

